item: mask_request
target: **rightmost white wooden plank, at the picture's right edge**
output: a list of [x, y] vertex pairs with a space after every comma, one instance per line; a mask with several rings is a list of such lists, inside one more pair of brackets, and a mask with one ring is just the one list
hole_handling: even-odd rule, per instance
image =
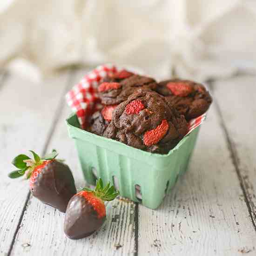
[[232, 160], [256, 230], [256, 76], [243, 75], [218, 81], [213, 88]]

